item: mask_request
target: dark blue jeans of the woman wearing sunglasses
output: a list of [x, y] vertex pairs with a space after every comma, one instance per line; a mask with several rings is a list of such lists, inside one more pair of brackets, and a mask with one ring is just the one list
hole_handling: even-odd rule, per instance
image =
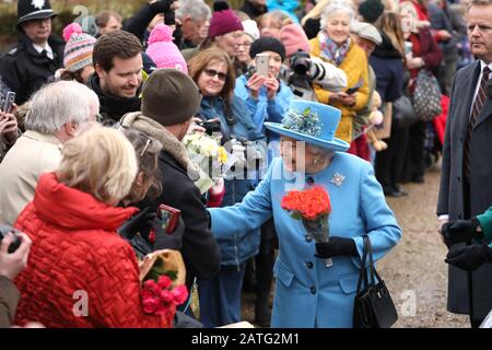
[[241, 292], [246, 262], [221, 266], [219, 275], [210, 280], [198, 280], [200, 322], [207, 328], [241, 320]]

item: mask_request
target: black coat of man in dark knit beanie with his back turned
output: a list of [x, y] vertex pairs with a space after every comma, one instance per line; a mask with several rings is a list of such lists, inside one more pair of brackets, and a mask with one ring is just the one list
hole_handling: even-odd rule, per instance
[[165, 151], [159, 156], [159, 168], [163, 177], [163, 191], [154, 202], [181, 211], [185, 232], [180, 252], [186, 266], [186, 284], [190, 288], [195, 277], [211, 279], [219, 272], [219, 245], [209, 229], [209, 217], [200, 191], [188, 177], [186, 168]]

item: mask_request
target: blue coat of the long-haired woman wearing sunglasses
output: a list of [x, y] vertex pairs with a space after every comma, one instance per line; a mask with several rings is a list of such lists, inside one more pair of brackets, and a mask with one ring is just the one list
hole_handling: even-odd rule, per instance
[[[243, 101], [234, 96], [231, 101], [231, 110], [235, 117], [234, 125], [227, 125], [222, 97], [203, 97], [200, 105], [200, 114], [206, 119], [219, 118], [221, 120], [222, 132], [229, 137], [255, 141], [263, 139], [253, 120], [251, 115]], [[254, 189], [254, 179], [232, 179], [225, 180], [225, 195], [222, 206], [232, 206], [241, 200]], [[249, 231], [242, 235], [232, 235], [216, 240], [221, 248], [221, 265], [239, 265], [249, 257], [258, 254], [260, 236], [259, 229]]]

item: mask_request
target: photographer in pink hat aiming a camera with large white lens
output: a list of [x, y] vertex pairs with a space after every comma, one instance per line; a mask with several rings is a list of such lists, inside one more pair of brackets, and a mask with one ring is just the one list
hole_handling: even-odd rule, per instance
[[317, 101], [313, 84], [330, 91], [347, 88], [347, 74], [335, 65], [309, 56], [309, 42], [298, 24], [289, 24], [280, 31], [280, 39], [285, 46], [286, 69], [281, 78], [291, 88], [296, 98]]

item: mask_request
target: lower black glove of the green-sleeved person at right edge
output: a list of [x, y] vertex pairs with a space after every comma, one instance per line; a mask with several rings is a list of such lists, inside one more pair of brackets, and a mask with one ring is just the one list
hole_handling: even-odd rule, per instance
[[475, 271], [484, 262], [492, 262], [492, 249], [487, 245], [452, 246], [447, 253], [447, 264], [462, 270]]

